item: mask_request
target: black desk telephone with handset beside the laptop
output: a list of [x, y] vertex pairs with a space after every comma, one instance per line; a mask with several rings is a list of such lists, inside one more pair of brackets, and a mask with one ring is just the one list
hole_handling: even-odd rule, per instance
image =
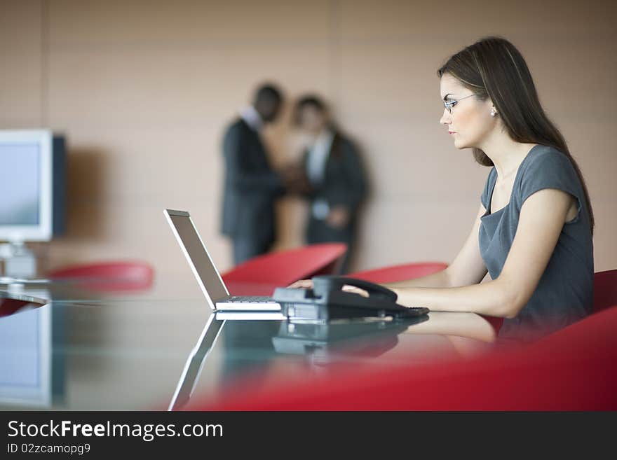
[[[272, 298], [280, 303], [288, 319], [329, 321], [359, 316], [393, 316], [398, 319], [428, 313], [428, 308], [398, 305], [395, 292], [362, 279], [322, 275], [313, 277], [312, 281], [313, 288], [310, 289], [275, 289]], [[369, 297], [343, 291], [345, 285], [364, 289]]]

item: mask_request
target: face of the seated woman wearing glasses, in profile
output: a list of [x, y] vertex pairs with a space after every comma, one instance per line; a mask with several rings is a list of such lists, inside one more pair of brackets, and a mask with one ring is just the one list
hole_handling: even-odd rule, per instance
[[443, 116], [439, 120], [454, 137], [454, 146], [459, 149], [481, 148], [484, 139], [496, 124], [496, 117], [491, 117], [491, 99], [480, 101], [473, 96], [471, 90], [450, 74], [442, 76], [440, 93], [445, 102], [457, 101], [451, 106], [452, 113], [444, 108]]

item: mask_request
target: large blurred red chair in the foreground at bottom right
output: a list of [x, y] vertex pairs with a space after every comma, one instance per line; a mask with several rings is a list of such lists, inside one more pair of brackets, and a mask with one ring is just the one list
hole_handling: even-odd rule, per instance
[[[203, 410], [617, 410], [617, 306], [516, 351], [233, 393]], [[245, 386], [250, 389], [250, 385]]]

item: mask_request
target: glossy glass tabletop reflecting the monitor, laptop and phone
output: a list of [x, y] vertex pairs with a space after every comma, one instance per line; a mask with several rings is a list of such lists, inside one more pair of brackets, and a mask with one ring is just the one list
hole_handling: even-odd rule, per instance
[[243, 382], [259, 391], [301, 372], [460, 358], [494, 340], [490, 324], [470, 313], [321, 324], [250, 318], [217, 319], [190, 282], [144, 293], [0, 287], [0, 408], [173, 409]]

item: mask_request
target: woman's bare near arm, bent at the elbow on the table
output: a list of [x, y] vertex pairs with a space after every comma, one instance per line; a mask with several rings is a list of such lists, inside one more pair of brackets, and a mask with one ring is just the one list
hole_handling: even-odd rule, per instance
[[432, 310], [513, 318], [534, 293], [571, 207], [571, 195], [543, 189], [525, 200], [508, 258], [497, 279], [453, 288], [395, 288], [398, 302]]

